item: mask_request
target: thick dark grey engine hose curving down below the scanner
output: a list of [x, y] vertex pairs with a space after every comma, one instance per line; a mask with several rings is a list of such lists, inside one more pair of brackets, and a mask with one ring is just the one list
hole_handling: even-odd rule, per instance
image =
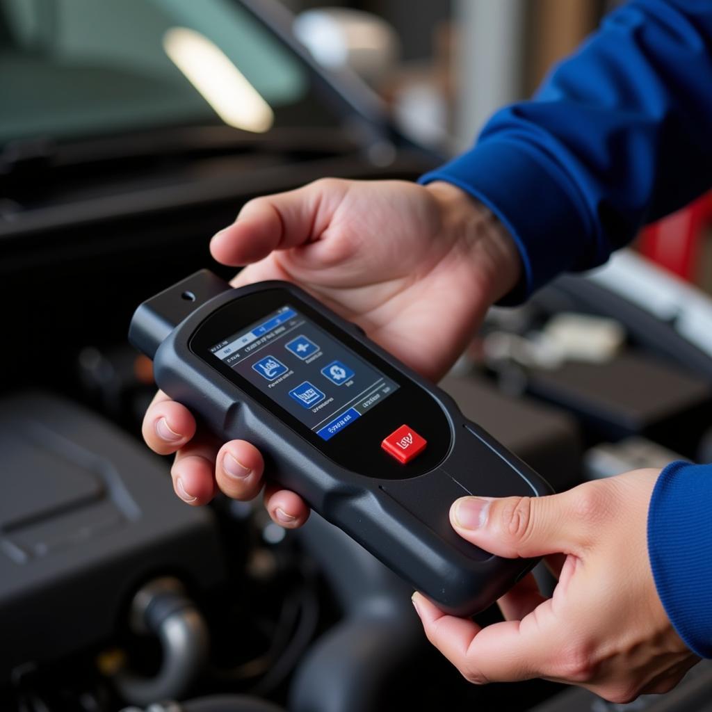
[[291, 712], [371, 712], [394, 674], [424, 648], [412, 589], [334, 525], [312, 513], [298, 536], [320, 564], [342, 620], [303, 655]]

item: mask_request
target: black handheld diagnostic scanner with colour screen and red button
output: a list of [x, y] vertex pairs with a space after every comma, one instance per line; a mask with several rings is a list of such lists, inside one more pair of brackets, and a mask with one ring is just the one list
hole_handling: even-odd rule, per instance
[[548, 484], [293, 284], [233, 289], [202, 270], [142, 303], [129, 338], [164, 392], [225, 440], [255, 444], [266, 476], [444, 611], [488, 607], [533, 566], [460, 538], [449, 508], [468, 494], [548, 494]]

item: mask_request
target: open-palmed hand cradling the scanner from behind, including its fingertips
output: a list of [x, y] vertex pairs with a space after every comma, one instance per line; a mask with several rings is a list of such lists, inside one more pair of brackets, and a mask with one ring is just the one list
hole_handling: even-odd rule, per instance
[[[293, 281], [422, 375], [439, 379], [464, 350], [493, 301], [520, 273], [513, 240], [484, 206], [446, 183], [325, 179], [248, 202], [211, 242], [219, 262], [246, 265], [235, 286]], [[245, 441], [196, 434], [192, 415], [159, 393], [143, 434], [159, 454], [176, 453], [176, 493], [208, 502], [216, 488], [251, 499], [263, 462]], [[279, 524], [308, 515], [294, 493], [267, 488]]]

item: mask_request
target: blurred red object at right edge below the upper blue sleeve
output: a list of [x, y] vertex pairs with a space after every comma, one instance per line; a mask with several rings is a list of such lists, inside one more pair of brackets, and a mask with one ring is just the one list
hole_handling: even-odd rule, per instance
[[697, 278], [696, 263], [706, 226], [712, 224], [712, 193], [647, 226], [639, 249], [644, 256], [688, 282]]

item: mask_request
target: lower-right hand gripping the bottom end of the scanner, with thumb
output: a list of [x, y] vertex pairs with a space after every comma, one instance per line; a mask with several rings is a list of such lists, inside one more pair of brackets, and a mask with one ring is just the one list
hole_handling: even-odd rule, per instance
[[565, 560], [552, 598], [530, 574], [499, 601], [506, 622], [486, 628], [415, 594], [430, 642], [476, 684], [543, 677], [617, 703], [671, 690], [699, 659], [666, 616], [648, 560], [658, 475], [637, 470], [542, 498], [456, 501], [451, 522], [478, 547]]

